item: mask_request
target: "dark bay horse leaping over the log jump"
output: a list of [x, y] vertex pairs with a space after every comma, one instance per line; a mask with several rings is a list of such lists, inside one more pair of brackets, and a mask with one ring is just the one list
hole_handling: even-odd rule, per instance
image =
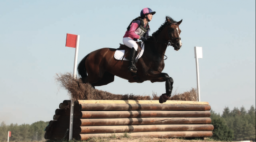
[[107, 85], [114, 81], [115, 75], [131, 83], [165, 81], [166, 93], [161, 95], [159, 102], [166, 102], [171, 96], [174, 81], [167, 73], [162, 72], [165, 67], [164, 55], [168, 45], [173, 46], [176, 51], [181, 48], [181, 23], [182, 20], [176, 22], [166, 17], [165, 23], [144, 42], [144, 53], [136, 63], [136, 75], [128, 70], [129, 61], [121, 62], [114, 58], [116, 49], [101, 48], [89, 53], [78, 65], [83, 83], [90, 83], [93, 87]]

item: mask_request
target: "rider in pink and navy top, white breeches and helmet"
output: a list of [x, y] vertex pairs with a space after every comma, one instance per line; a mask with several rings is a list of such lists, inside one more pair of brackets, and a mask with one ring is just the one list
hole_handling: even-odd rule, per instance
[[140, 17], [131, 21], [123, 37], [123, 43], [131, 48], [129, 57], [129, 70], [132, 72], [137, 72], [137, 68], [134, 62], [138, 49], [136, 41], [137, 39], [142, 41], [147, 40], [146, 36], [148, 36], [148, 31], [150, 30], [148, 22], [152, 20], [154, 14], [155, 11], [153, 12], [149, 8], [142, 9], [140, 12]]

